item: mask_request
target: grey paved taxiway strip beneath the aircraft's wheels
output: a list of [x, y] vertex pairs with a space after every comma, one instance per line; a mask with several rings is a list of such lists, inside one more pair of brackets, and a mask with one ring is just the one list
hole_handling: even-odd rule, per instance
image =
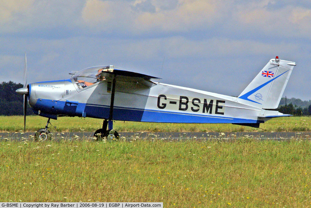
[[[311, 132], [119, 132], [120, 138], [140, 138], [140, 139], [210, 139], [210, 138], [254, 138], [254, 139], [308, 139], [311, 138]], [[0, 133], [0, 139], [21, 139], [30, 138], [33, 132], [3, 132]], [[55, 139], [82, 139], [92, 138], [93, 132], [53, 132], [51, 135]]]

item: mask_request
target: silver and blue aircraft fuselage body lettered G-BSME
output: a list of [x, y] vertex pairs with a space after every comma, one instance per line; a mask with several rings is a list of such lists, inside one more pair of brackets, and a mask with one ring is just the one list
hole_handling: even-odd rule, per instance
[[[56, 119], [79, 116], [108, 119], [111, 82], [79, 88], [73, 78], [29, 84], [35, 114]], [[262, 109], [239, 98], [148, 81], [117, 80], [113, 120], [169, 123], [262, 123]]]

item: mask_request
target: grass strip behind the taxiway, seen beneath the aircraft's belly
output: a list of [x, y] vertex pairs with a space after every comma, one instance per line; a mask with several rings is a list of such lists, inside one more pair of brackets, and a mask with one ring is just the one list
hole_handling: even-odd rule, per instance
[[[41, 116], [27, 116], [26, 131], [34, 132], [44, 128], [47, 118]], [[95, 131], [102, 127], [102, 119], [59, 117], [51, 123], [57, 126], [50, 131]], [[311, 117], [281, 117], [274, 118], [260, 127], [267, 131], [311, 131]], [[19, 131], [24, 129], [23, 116], [0, 116], [0, 131]], [[119, 132], [237, 132], [237, 131], [264, 131], [258, 128], [233, 124], [172, 124], [172, 123], [146, 123], [132, 121], [116, 121], [114, 129]]]

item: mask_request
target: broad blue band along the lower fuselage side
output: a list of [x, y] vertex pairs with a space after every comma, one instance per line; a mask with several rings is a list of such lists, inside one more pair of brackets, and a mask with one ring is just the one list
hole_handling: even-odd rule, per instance
[[[52, 101], [38, 99], [34, 109], [53, 115], [86, 116], [92, 118], [107, 119], [110, 106], [66, 103], [64, 101]], [[147, 110], [128, 107], [114, 107], [113, 119], [119, 121], [143, 121], [163, 123], [259, 123], [263, 121], [230, 118], [211, 115], [197, 115], [184, 112], [169, 112], [159, 110]]]

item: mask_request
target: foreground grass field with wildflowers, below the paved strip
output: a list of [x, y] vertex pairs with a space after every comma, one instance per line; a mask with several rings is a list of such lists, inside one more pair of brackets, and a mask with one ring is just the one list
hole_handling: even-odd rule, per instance
[[310, 207], [311, 141], [0, 141], [0, 201]]

